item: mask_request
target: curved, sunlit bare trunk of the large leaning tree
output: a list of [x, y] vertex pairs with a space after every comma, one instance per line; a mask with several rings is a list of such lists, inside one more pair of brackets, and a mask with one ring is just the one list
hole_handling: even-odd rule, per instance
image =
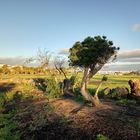
[[97, 93], [93, 97], [90, 95], [90, 93], [87, 90], [87, 84], [89, 82], [88, 73], [89, 73], [89, 68], [85, 68], [82, 83], [81, 83], [81, 94], [84, 96], [84, 98], [87, 101], [90, 101], [94, 106], [100, 106], [100, 101]]

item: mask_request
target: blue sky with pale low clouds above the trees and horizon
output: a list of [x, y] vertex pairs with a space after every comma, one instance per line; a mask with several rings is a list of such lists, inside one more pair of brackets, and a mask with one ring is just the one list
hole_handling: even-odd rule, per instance
[[67, 55], [105, 35], [120, 47], [117, 70], [140, 70], [140, 0], [0, 0], [0, 63], [21, 64], [46, 48]]

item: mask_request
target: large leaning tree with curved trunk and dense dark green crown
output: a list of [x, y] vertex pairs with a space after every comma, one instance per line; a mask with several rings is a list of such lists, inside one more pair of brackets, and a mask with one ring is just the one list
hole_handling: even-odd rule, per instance
[[69, 49], [70, 65], [82, 67], [84, 70], [81, 94], [95, 106], [99, 106], [101, 103], [98, 96], [89, 94], [88, 82], [109, 60], [116, 58], [118, 50], [119, 48], [115, 47], [106, 36], [87, 37], [82, 42], [76, 42]]

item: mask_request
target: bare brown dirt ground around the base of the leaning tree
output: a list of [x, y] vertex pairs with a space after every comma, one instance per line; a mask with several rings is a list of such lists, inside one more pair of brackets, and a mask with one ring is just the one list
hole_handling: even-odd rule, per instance
[[19, 104], [15, 119], [20, 122], [22, 139], [94, 140], [103, 134], [111, 140], [138, 140], [135, 123], [140, 121], [139, 106], [126, 106], [102, 100], [103, 106], [83, 106], [73, 99], [28, 99]]

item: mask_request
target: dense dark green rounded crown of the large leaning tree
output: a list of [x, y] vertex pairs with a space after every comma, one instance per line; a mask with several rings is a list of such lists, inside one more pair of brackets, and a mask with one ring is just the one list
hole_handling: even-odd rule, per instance
[[82, 42], [76, 42], [70, 48], [70, 65], [80, 67], [95, 67], [106, 64], [112, 56], [116, 58], [119, 48], [105, 36], [87, 37]]

